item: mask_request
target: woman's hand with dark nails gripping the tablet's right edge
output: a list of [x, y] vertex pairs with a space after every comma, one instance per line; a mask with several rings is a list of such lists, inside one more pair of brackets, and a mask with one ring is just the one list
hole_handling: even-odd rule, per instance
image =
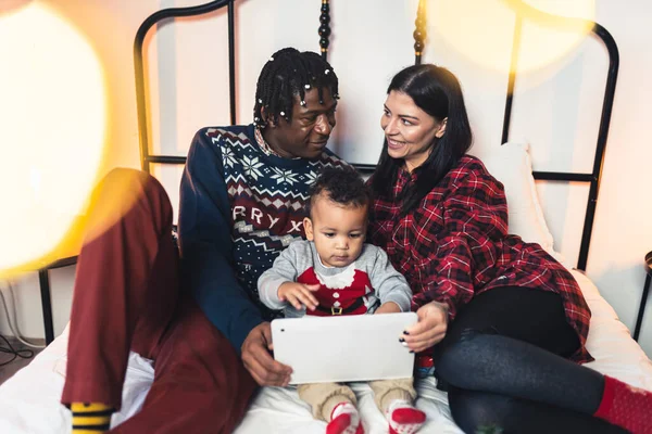
[[430, 302], [416, 311], [418, 322], [409, 327], [401, 339], [414, 353], [423, 352], [439, 343], [446, 336], [448, 328], [448, 306]]

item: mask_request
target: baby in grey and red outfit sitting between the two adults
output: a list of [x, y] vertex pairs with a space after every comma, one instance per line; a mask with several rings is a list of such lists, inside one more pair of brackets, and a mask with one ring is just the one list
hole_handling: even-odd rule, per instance
[[[261, 301], [303, 315], [410, 311], [412, 292], [387, 254], [364, 239], [371, 194], [353, 168], [326, 168], [311, 188], [303, 225], [306, 241], [292, 242], [259, 279]], [[369, 382], [390, 434], [412, 434], [425, 421], [413, 406], [413, 379]], [[353, 391], [346, 384], [301, 384], [301, 399], [328, 422], [327, 434], [363, 434]]]

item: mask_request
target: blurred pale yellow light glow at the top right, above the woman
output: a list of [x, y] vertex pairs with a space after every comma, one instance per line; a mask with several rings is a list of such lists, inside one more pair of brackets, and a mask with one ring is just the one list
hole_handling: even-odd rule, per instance
[[473, 63], [498, 72], [510, 71], [516, 13], [524, 16], [516, 71], [525, 73], [557, 62], [586, 38], [592, 28], [589, 21], [595, 16], [595, 0], [428, 3], [429, 28]]

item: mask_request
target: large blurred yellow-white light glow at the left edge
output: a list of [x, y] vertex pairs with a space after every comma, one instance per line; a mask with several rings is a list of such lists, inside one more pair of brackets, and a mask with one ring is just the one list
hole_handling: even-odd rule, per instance
[[0, 4], [0, 277], [55, 259], [103, 153], [104, 77], [90, 44], [38, 3]]

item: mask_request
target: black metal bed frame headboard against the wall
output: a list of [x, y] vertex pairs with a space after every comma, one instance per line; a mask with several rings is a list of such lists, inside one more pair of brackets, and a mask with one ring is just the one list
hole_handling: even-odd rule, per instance
[[[598, 23], [587, 22], [578, 18], [567, 18], [556, 15], [551, 15], [541, 12], [522, 0], [503, 0], [507, 5], [516, 12], [516, 24], [514, 27], [514, 38], [512, 46], [511, 73], [507, 82], [507, 94], [505, 101], [505, 113], [503, 118], [502, 141], [505, 143], [510, 133], [510, 122], [512, 118], [512, 102], [514, 94], [514, 86], [516, 82], [516, 65], [518, 64], [518, 50], [521, 48], [522, 28], [524, 20], [531, 20], [541, 25], [564, 27], [575, 25], [577, 23], [589, 24], [591, 31], [602, 40], [609, 53], [609, 72], [606, 77], [606, 86], [604, 89], [604, 100], [602, 103], [602, 113], [600, 118], [600, 129], [595, 148], [595, 157], [593, 159], [593, 168], [591, 173], [560, 173], [560, 171], [532, 171], [535, 179], [549, 181], [574, 181], [588, 182], [590, 184], [587, 210], [582, 228], [581, 245], [577, 261], [577, 269], [586, 271], [587, 260], [589, 256], [589, 245], [591, 242], [591, 233], [593, 230], [593, 219], [595, 217], [595, 205], [598, 202], [598, 193], [600, 190], [600, 181], [602, 177], [602, 165], [604, 162], [604, 150], [609, 136], [609, 125], [616, 90], [616, 79], [618, 76], [619, 54], [618, 48], [611, 34]], [[426, 2], [419, 0], [417, 14], [415, 20], [414, 30], [414, 61], [415, 64], [421, 64], [422, 53], [425, 48], [426, 39]], [[226, 7], [228, 9], [228, 52], [229, 52], [229, 97], [230, 97], [230, 122], [236, 124], [236, 77], [235, 77], [235, 0], [216, 0], [205, 4], [191, 8], [172, 8], [161, 10], [149, 16], [138, 28], [136, 40], [134, 42], [134, 63], [136, 74], [136, 97], [138, 105], [138, 131], [140, 142], [140, 163], [142, 170], [150, 173], [151, 164], [185, 164], [186, 157], [173, 155], [154, 155], [150, 153], [150, 142], [148, 136], [148, 113], [146, 102], [146, 77], [143, 66], [143, 41], [145, 37], [151, 27], [166, 18], [175, 18], [181, 16], [196, 16], [206, 14]], [[330, 37], [330, 7], [329, 0], [322, 0], [322, 14], [319, 15], [318, 35], [322, 56], [327, 59], [328, 46]], [[375, 165], [373, 164], [353, 164], [360, 171], [369, 174], [373, 173]]]

